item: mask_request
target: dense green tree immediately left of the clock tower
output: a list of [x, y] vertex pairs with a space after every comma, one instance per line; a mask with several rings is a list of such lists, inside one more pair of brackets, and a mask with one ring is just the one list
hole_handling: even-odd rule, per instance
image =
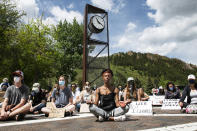
[[53, 37], [59, 54], [57, 60], [60, 62], [57, 75], [70, 75], [73, 80], [77, 74], [75, 69], [82, 65], [83, 25], [76, 19], [72, 23], [60, 21], [54, 27]]

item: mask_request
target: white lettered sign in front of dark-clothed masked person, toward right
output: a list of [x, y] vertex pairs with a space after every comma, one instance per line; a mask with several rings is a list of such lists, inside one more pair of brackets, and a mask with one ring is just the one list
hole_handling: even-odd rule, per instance
[[179, 99], [165, 99], [163, 101], [162, 110], [180, 110]]

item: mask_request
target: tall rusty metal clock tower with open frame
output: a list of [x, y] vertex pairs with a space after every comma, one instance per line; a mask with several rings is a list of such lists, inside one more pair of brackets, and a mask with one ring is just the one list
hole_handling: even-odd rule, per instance
[[84, 14], [83, 84], [96, 87], [103, 84], [101, 72], [109, 65], [108, 13], [87, 4]]

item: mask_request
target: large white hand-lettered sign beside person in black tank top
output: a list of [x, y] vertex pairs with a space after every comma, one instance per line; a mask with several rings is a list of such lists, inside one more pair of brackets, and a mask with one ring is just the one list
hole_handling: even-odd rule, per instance
[[151, 101], [134, 101], [130, 104], [127, 115], [153, 115]]

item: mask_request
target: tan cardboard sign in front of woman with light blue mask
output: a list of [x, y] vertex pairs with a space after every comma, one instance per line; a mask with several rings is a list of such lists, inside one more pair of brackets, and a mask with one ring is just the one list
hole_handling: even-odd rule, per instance
[[65, 108], [54, 108], [51, 102], [47, 103], [47, 108], [51, 110], [49, 117], [51, 118], [62, 118], [65, 114]]

